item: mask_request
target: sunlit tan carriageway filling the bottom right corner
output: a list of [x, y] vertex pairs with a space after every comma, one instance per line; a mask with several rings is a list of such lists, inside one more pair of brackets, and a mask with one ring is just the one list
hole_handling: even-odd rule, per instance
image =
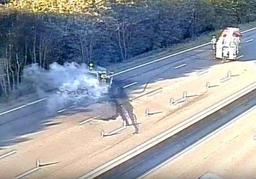
[[145, 179], [256, 179], [255, 116], [251, 111]]

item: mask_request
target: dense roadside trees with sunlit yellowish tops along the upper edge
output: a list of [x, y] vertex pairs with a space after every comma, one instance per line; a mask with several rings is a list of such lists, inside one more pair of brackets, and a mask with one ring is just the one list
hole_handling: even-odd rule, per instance
[[0, 96], [22, 70], [54, 61], [100, 65], [256, 20], [256, 0], [1, 0]]

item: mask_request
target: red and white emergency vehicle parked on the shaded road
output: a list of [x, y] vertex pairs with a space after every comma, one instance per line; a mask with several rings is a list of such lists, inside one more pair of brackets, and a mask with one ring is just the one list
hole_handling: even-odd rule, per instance
[[240, 52], [241, 34], [236, 27], [225, 28], [216, 43], [216, 58], [235, 60]]

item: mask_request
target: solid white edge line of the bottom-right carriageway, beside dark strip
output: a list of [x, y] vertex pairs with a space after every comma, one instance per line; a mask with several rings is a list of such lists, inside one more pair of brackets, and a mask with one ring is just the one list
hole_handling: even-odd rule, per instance
[[[179, 153], [176, 153], [175, 155], [173, 155], [172, 157], [170, 157], [169, 159], [167, 159], [166, 161], [160, 163], [159, 165], [155, 166], [154, 168], [150, 169], [149, 171], [147, 171], [146, 173], [142, 174], [141, 176], [139, 176], [136, 179], [143, 179], [146, 176], [148, 176], [149, 174], [155, 172], [156, 170], [158, 170], [159, 168], [161, 168], [162, 166], [166, 165], [167, 163], [169, 163], [170, 161], [174, 160], [175, 158], [181, 156], [182, 154], [188, 152], [189, 150], [193, 149], [194, 147], [198, 147], [199, 145], [202, 145], [203, 142], [207, 142], [209, 140], [211, 140], [212, 138], [215, 137], [215, 135], [217, 133], [219, 133], [220, 131], [222, 131], [223, 129], [226, 129], [227, 127], [231, 127], [232, 124], [234, 124], [234, 122], [238, 121], [239, 119], [241, 119], [242, 117], [246, 116], [248, 113], [250, 113], [251, 111], [253, 111], [254, 109], [256, 109], [256, 105], [251, 107], [250, 109], [248, 109], [247, 111], [245, 111], [244, 113], [240, 114], [239, 116], [237, 116], [236, 118], [232, 119], [231, 121], [229, 121], [228, 123], [224, 124], [222, 127], [215, 129], [214, 131], [212, 131], [211, 133], [207, 134], [206, 136], [204, 136], [202, 139], [196, 141], [195, 143], [193, 143], [191, 146], [187, 147], [186, 149], [182, 150]], [[245, 119], [245, 118], [242, 118]]]

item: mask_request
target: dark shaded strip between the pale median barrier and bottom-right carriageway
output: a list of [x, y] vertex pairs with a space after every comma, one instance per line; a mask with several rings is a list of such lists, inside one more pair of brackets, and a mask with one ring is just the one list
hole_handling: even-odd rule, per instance
[[256, 90], [109, 170], [97, 179], [136, 179], [254, 106], [256, 106]]

